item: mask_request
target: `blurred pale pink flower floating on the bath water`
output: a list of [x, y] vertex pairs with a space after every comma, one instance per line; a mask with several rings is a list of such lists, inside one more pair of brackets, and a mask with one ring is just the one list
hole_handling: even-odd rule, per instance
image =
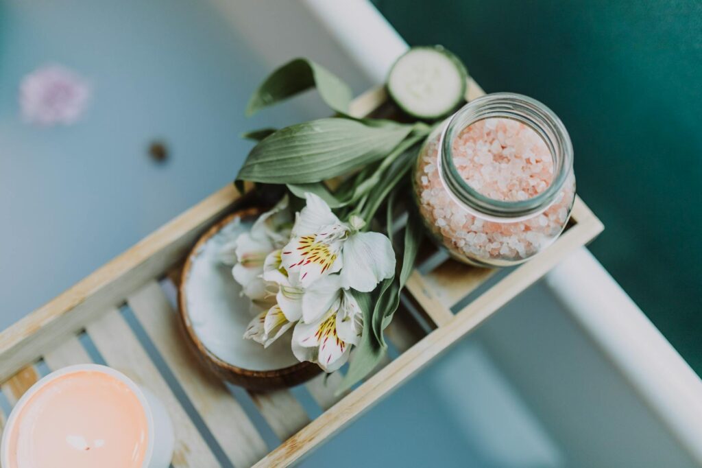
[[90, 95], [88, 83], [78, 74], [60, 65], [47, 65], [22, 79], [22, 117], [32, 124], [70, 125], [81, 117]]

